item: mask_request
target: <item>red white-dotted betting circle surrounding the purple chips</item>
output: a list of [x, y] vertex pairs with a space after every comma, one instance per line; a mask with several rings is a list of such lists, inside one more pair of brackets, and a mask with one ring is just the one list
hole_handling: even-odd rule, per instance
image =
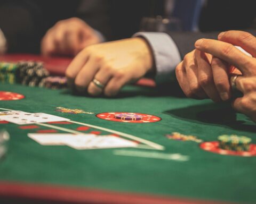
[[[125, 121], [121, 119], [115, 118], [115, 115], [117, 114], [134, 114], [134, 115], [140, 115], [142, 116], [142, 120], [138, 121]], [[99, 113], [96, 115], [98, 118], [107, 120], [107, 121], [115, 121], [115, 122], [124, 122], [124, 123], [154, 123], [161, 121], [161, 117], [157, 117], [155, 115], [149, 115], [149, 114], [143, 114], [143, 113], [128, 113], [128, 112], [111, 112], [111, 113]]]

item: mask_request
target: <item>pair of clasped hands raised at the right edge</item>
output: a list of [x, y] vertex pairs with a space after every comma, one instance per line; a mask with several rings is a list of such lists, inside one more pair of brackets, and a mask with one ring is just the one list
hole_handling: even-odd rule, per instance
[[[176, 68], [184, 93], [198, 99], [228, 100], [233, 86], [243, 93], [232, 101], [233, 107], [256, 122], [256, 37], [243, 31], [221, 32], [218, 40], [197, 40], [195, 48]], [[230, 65], [241, 72], [231, 80], [231, 85]]]

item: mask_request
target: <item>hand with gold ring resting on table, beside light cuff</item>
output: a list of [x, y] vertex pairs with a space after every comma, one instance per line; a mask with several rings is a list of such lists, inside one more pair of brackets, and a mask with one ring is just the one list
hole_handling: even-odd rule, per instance
[[150, 71], [153, 56], [148, 44], [142, 38], [131, 38], [84, 48], [68, 66], [66, 76], [78, 92], [114, 96], [126, 83]]

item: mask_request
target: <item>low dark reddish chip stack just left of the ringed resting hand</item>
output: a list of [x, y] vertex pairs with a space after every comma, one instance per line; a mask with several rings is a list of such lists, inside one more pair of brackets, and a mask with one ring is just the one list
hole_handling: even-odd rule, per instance
[[66, 77], [47, 77], [47, 78], [44, 78], [39, 83], [39, 87], [46, 87], [50, 89], [67, 88], [67, 78]]

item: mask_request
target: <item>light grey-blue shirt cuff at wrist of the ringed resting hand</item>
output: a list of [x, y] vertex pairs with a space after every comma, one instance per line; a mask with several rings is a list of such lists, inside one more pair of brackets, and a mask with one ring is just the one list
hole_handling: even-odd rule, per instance
[[173, 39], [164, 32], [137, 32], [133, 37], [144, 38], [153, 50], [156, 82], [170, 80], [175, 73], [175, 67], [181, 62], [178, 47]]

